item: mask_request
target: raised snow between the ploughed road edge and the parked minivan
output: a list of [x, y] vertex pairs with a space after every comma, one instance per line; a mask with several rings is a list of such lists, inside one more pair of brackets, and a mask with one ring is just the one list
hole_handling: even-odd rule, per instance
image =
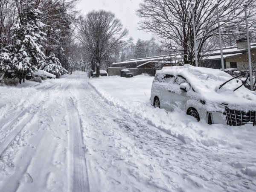
[[111, 76], [93, 79], [89, 84], [109, 105], [140, 117], [183, 143], [214, 150], [256, 151], [256, 128], [253, 125], [208, 125], [204, 121], [197, 122], [179, 109], [167, 113], [164, 109], [152, 107], [149, 98], [153, 79], [143, 75], [133, 79]]

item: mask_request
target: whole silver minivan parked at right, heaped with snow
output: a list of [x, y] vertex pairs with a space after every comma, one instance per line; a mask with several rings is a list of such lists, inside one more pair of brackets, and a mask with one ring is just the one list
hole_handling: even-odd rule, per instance
[[156, 71], [150, 99], [155, 108], [179, 108], [208, 124], [254, 126], [256, 121], [255, 91], [221, 70], [189, 64], [163, 67]]

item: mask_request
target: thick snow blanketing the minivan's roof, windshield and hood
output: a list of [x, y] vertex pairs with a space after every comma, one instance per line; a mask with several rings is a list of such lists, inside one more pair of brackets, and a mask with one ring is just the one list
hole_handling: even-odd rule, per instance
[[[229, 103], [233, 106], [242, 106], [243, 109], [256, 110], [256, 93], [250, 91], [244, 86], [234, 91], [242, 82], [233, 79], [219, 89], [219, 86], [225, 81], [232, 79], [229, 74], [218, 70], [205, 67], [194, 67], [185, 64], [182, 67], [163, 67], [156, 71], [157, 74], [180, 75], [186, 78], [196, 93], [199, 93], [201, 99], [218, 103]], [[235, 107], [236, 108], [236, 107]]]

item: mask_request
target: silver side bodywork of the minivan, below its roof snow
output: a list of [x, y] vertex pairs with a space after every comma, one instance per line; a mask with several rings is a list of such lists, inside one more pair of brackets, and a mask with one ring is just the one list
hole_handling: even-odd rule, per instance
[[[166, 76], [165, 74], [163, 75]], [[159, 78], [157, 78], [157, 76], [159, 76], [159, 74], [156, 74], [151, 87], [150, 100], [152, 106], [154, 106], [154, 101], [157, 97], [160, 101], [160, 108], [163, 108], [166, 111], [172, 112], [175, 108], [178, 108], [187, 113], [189, 108], [194, 108], [198, 111], [200, 120], [204, 120], [206, 122], [208, 122], [208, 113], [212, 112], [215, 117], [215, 123], [227, 125], [225, 115], [223, 114], [225, 106], [217, 105], [214, 110], [212, 110], [212, 107], [208, 109], [207, 105], [205, 105], [205, 101], [201, 100], [200, 96], [196, 96], [197, 93], [195, 93], [193, 87], [189, 84], [189, 81], [187, 81], [183, 76], [169, 76], [169, 79], [166, 78], [166, 81], [162, 82], [158, 81]], [[180, 89], [180, 84], [182, 83], [189, 84], [187, 92]], [[188, 94], [189, 92], [192, 94]], [[191, 97], [189, 95], [195, 96]]]

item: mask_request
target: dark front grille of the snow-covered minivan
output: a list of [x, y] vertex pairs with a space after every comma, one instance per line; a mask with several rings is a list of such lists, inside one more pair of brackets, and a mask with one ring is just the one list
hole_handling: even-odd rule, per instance
[[227, 119], [227, 124], [230, 126], [240, 126], [244, 124], [253, 124], [255, 125], [256, 121], [256, 112], [255, 111], [237, 111], [233, 109], [229, 109], [226, 107], [226, 119]]

